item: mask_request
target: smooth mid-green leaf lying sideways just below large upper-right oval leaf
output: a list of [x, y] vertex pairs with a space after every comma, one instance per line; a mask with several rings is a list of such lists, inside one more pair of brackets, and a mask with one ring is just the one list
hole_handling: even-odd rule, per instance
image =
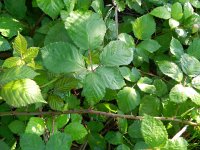
[[137, 48], [142, 48], [150, 53], [157, 51], [160, 48], [160, 44], [152, 39], [144, 40], [137, 45]]

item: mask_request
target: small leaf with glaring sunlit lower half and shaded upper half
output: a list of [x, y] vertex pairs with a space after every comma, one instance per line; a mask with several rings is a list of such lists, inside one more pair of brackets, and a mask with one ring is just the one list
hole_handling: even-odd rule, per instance
[[156, 92], [156, 87], [153, 84], [153, 80], [148, 77], [141, 77], [137, 82], [137, 86], [141, 91], [145, 93], [154, 94]]

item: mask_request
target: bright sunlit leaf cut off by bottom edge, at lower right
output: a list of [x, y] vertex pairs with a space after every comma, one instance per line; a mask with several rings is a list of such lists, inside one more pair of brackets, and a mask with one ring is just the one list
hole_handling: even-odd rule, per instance
[[179, 137], [178, 139], [175, 139], [175, 140], [171, 140], [169, 139], [164, 147], [164, 150], [178, 150], [178, 149], [181, 149], [181, 150], [187, 150], [187, 146], [188, 146], [188, 143], [187, 141], [182, 138], [182, 137]]

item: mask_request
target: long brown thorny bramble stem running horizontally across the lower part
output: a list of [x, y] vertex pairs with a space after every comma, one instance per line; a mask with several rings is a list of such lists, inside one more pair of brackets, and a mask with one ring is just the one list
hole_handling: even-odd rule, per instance
[[[143, 116], [133, 116], [133, 115], [121, 115], [121, 114], [114, 114], [114, 113], [108, 113], [103, 111], [96, 111], [91, 109], [80, 109], [80, 110], [68, 110], [64, 112], [58, 112], [58, 111], [47, 111], [47, 112], [16, 112], [16, 111], [9, 111], [9, 112], [0, 112], [0, 116], [24, 116], [24, 115], [60, 115], [60, 114], [95, 114], [95, 115], [102, 115], [106, 117], [112, 117], [112, 118], [124, 118], [124, 119], [130, 119], [130, 120], [142, 120]], [[191, 126], [200, 126], [200, 123], [188, 121], [188, 120], [182, 120], [175, 117], [154, 117], [158, 120], [162, 121], [173, 121], [173, 122], [179, 122], [186, 125]]]

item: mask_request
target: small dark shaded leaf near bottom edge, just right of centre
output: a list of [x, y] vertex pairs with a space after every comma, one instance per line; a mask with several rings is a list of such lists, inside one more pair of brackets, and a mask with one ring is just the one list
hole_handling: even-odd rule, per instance
[[123, 135], [120, 132], [109, 131], [105, 135], [105, 139], [108, 143], [113, 145], [119, 145], [123, 143]]

